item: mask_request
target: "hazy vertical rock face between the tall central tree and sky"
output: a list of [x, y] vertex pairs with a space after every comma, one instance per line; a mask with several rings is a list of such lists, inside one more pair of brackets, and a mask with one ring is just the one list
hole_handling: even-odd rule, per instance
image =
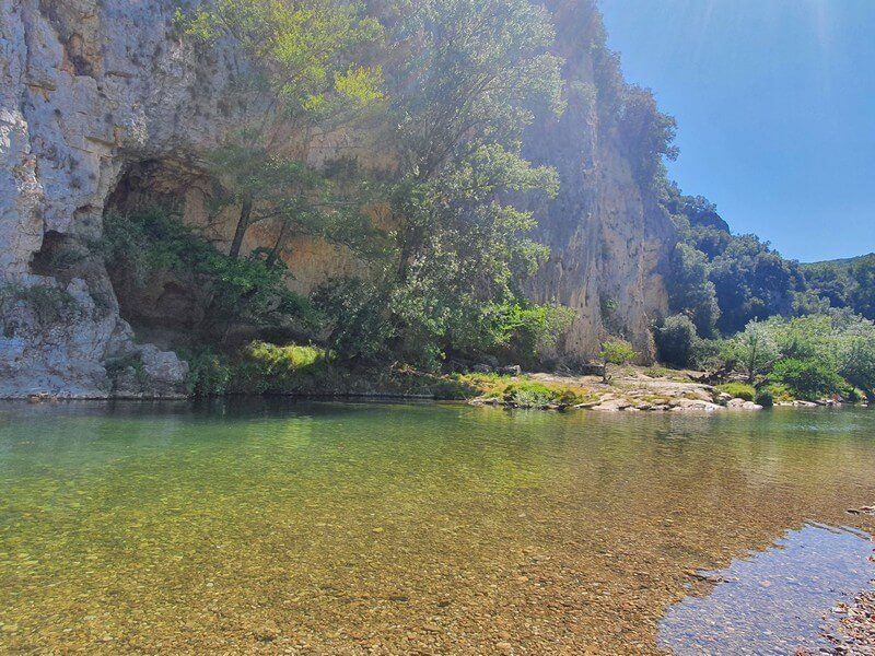
[[550, 246], [551, 257], [530, 294], [578, 312], [565, 354], [592, 356], [607, 333], [619, 332], [651, 359], [650, 324], [668, 309], [663, 273], [676, 242], [674, 226], [654, 192], [637, 179], [615, 117], [599, 99], [611, 92], [616, 63], [600, 45], [595, 3], [546, 5], [556, 24], [556, 54], [565, 60], [569, 104], [559, 120], [538, 117], [526, 137], [527, 157], [556, 167], [561, 180], [559, 197], [536, 208], [538, 241]]

